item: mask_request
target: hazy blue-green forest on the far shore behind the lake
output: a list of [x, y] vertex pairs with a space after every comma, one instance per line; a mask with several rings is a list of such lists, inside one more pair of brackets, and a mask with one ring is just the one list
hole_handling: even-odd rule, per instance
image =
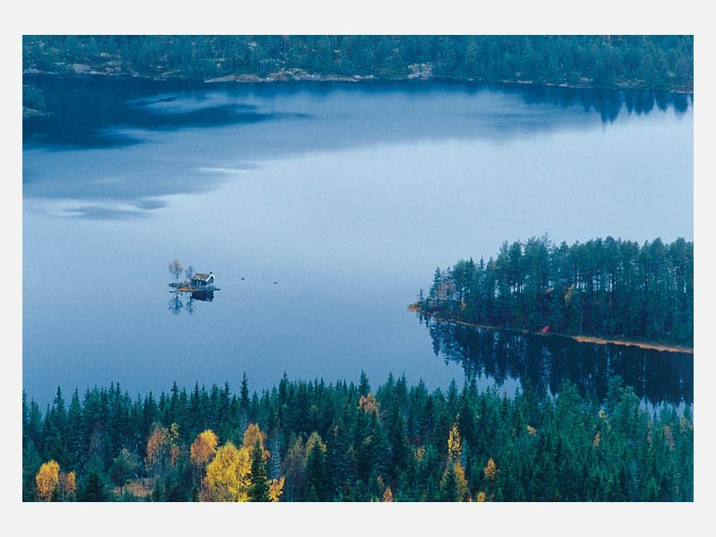
[[24, 36], [25, 72], [694, 88], [693, 36]]

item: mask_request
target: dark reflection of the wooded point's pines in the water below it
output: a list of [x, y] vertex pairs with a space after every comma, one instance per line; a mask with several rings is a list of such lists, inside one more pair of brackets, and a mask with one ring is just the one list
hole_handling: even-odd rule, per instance
[[635, 346], [594, 345], [567, 337], [522, 336], [426, 320], [433, 351], [462, 364], [468, 379], [485, 375], [502, 385], [528, 381], [557, 393], [565, 380], [585, 396], [603, 399], [609, 379], [618, 375], [637, 396], [652, 404], [687, 404], [694, 399], [693, 356]]

